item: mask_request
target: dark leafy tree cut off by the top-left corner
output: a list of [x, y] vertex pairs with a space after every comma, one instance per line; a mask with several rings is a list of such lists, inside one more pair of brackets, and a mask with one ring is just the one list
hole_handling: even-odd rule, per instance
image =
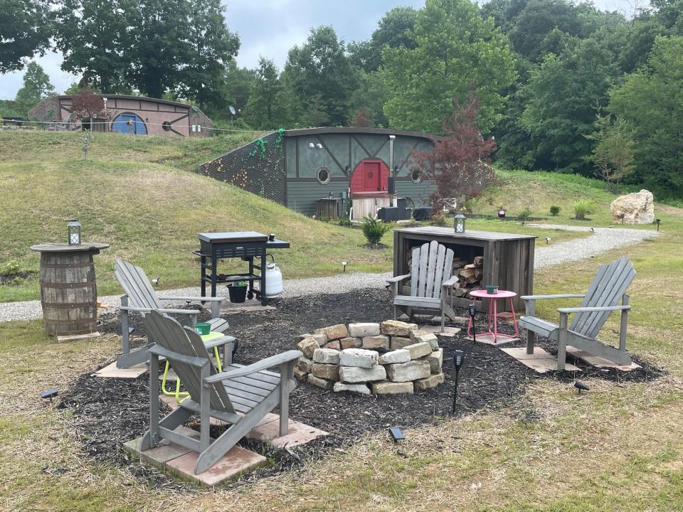
[[51, 3], [47, 0], [0, 0], [0, 75], [23, 68], [35, 53], [50, 46]]

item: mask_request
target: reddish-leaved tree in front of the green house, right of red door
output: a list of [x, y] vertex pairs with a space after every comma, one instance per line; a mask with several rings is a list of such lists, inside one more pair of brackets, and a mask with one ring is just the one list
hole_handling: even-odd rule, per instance
[[[432, 137], [432, 151], [413, 150], [413, 161], [423, 178], [435, 184], [430, 195], [435, 209], [461, 210], [468, 199], [479, 196], [494, 180], [488, 165], [497, 149], [493, 137], [485, 139], [477, 129], [480, 102], [472, 92], [465, 105], [453, 100], [453, 112], [443, 122], [443, 137]], [[455, 205], [454, 205], [455, 203]]]

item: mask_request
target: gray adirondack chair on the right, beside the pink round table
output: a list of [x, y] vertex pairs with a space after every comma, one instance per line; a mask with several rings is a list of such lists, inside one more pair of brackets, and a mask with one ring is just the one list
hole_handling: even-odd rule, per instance
[[[632, 263], [627, 257], [622, 257], [609, 265], [600, 265], [586, 294], [522, 296], [521, 299], [526, 304], [526, 316], [521, 317], [519, 326], [526, 329], [526, 353], [534, 353], [534, 333], [538, 333], [557, 342], [558, 370], [565, 368], [567, 345], [593, 353], [619, 365], [630, 365], [631, 358], [626, 353], [626, 324], [631, 306], [628, 305], [628, 295], [625, 292], [634, 277], [635, 270]], [[536, 300], [574, 298], [583, 298], [581, 306], [558, 308], [559, 324], [534, 316]], [[618, 304], [619, 300], [621, 304]], [[621, 311], [618, 349], [595, 339], [613, 311]], [[571, 324], [568, 324], [570, 314], [576, 314], [576, 316]]]

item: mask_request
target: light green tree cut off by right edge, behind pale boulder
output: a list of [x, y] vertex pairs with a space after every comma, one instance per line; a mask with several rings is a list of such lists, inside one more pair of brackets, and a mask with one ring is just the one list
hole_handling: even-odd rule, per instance
[[660, 37], [647, 65], [611, 92], [608, 112], [635, 133], [635, 173], [660, 196], [683, 197], [683, 37]]

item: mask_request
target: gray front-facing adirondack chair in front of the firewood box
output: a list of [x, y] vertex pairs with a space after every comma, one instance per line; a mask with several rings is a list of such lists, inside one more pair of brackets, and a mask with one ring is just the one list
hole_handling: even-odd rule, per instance
[[[455, 318], [452, 303], [452, 288], [457, 277], [452, 277], [453, 251], [445, 245], [432, 240], [420, 247], [413, 247], [411, 273], [391, 277], [386, 282], [393, 285], [393, 318], [398, 316], [399, 308], [407, 308], [408, 315], [415, 309], [439, 309], [441, 311], [441, 331], [445, 316]], [[403, 281], [411, 280], [410, 295], [401, 294]]]

